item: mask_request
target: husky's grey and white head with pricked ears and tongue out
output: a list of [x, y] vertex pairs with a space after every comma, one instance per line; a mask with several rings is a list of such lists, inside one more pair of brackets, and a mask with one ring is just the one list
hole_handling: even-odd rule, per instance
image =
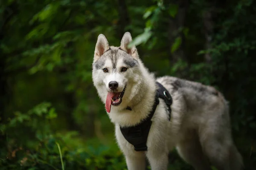
[[111, 106], [115, 110], [126, 108], [138, 93], [142, 72], [136, 47], [128, 48], [131, 41], [131, 34], [126, 32], [120, 47], [110, 47], [103, 34], [96, 43], [93, 83], [108, 113]]

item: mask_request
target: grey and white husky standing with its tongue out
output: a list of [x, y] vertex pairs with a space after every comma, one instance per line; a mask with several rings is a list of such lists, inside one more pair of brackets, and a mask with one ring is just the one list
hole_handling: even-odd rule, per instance
[[[229, 106], [215, 88], [176, 77], [155, 78], [141, 61], [126, 32], [120, 47], [109, 46], [100, 34], [93, 58], [92, 78], [128, 170], [167, 170], [169, 151], [176, 147], [195, 170], [241, 170], [242, 157], [231, 136]], [[146, 138], [146, 150], [136, 151], [121, 129], [134, 127], [152, 112], [159, 82], [172, 97], [171, 115], [159, 99]], [[145, 148], [144, 148], [145, 149]]]

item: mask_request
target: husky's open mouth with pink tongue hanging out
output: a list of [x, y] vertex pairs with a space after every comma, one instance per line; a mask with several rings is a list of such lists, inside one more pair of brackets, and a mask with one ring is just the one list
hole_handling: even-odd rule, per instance
[[106, 111], [108, 113], [110, 113], [111, 105], [118, 106], [122, 103], [122, 97], [125, 94], [125, 89], [126, 85], [122, 92], [108, 92], [105, 105]]

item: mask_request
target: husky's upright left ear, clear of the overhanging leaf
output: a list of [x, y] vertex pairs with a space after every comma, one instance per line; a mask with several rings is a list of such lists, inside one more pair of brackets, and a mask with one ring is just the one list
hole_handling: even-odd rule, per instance
[[93, 61], [96, 62], [99, 59], [99, 57], [101, 57], [102, 54], [104, 54], [108, 49], [109, 49], [108, 40], [103, 34], [99, 34], [95, 51], [94, 51]]

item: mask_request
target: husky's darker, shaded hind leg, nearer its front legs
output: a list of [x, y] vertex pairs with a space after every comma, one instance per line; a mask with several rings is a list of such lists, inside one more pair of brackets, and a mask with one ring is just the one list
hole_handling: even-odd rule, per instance
[[191, 164], [195, 170], [211, 170], [195, 132], [191, 131], [184, 135], [183, 139], [177, 144], [177, 151], [180, 157]]

